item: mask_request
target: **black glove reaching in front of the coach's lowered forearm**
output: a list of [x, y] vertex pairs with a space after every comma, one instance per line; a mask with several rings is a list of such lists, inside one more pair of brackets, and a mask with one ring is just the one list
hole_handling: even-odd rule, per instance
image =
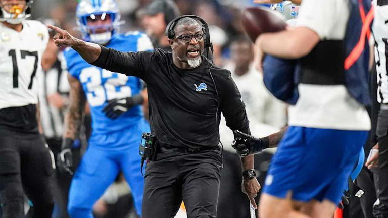
[[259, 153], [268, 148], [268, 139], [255, 138], [239, 130], [234, 131], [237, 136], [232, 143], [232, 147], [237, 150], [240, 157], [246, 157], [251, 154]]

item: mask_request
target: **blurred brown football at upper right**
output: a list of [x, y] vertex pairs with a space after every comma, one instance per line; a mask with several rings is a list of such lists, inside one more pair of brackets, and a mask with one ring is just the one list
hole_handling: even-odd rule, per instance
[[284, 30], [286, 22], [281, 14], [265, 7], [251, 7], [243, 12], [243, 27], [252, 42], [267, 32]]

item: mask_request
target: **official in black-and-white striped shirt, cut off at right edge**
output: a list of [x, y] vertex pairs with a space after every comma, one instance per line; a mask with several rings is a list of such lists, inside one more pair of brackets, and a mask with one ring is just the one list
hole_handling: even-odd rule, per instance
[[[369, 168], [378, 166], [378, 201], [376, 217], [388, 217], [388, 1], [374, 0], [375, 17], [372, 31], [375, 38], [375, 61], [377, 70], [377, 101], [380, 111], [377, 118], [376, 136], [378, 140], [377, 161], [368, 161]], [[373, 163], [374, 162], [374, 163]], [[373, 163], [373, 164], [372, 164]]]

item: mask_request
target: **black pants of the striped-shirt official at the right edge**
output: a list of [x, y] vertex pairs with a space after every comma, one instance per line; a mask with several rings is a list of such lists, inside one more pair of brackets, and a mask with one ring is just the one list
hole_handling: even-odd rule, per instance
[[377, 218], [388, 218], [388, 110], [380, 110], [376, 135], [379, 143], [377, 170], [377, 197], [379, 214]]

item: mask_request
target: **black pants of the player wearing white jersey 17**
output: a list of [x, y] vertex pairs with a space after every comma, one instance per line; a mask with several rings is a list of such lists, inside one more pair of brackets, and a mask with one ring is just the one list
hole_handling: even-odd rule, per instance
[[33, 203], [28, 217], [50, 218], [53, 194], [50, 176], [53, 162], [50, 149], [39, 134], [0, 132], [0, 201], [3, 218], [21, 218], [23, 190]]

